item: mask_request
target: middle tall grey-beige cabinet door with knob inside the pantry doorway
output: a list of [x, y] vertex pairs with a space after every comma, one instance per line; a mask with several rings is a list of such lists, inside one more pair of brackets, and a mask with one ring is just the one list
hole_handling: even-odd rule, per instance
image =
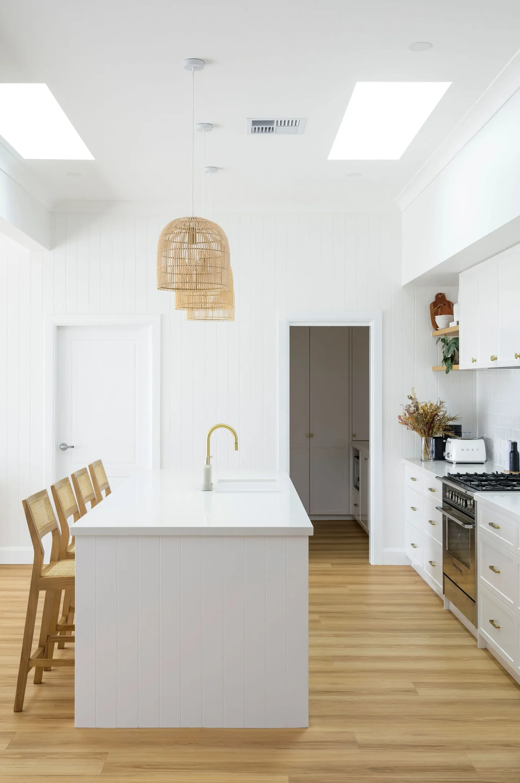
[[350, 514], [350, 327], [310, 327], [310, 514]]

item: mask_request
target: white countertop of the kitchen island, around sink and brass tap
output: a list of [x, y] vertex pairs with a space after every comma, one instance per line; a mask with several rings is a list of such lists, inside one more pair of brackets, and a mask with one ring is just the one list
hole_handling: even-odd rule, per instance
[[[253, 480], [275, 491], [203, 492], [199, 471], [140, 471], [76, 522], [74, 536], [312, 536], [285, 471], [215, 471], [213, 487]], [[229, 485], [228, 485], [229, 486]]]

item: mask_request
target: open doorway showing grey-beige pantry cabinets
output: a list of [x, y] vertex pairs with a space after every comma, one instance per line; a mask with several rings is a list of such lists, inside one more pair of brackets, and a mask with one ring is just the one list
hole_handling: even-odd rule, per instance
[[289, 474], [312, 521], [369, 533], [368, 326], [289, 327]]

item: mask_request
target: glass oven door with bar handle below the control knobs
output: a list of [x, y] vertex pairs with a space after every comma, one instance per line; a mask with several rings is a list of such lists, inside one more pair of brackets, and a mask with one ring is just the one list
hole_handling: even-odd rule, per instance
[[475, 520], [451, 507], [437, 508], [443, 514], [443, 572], [476, 601]]

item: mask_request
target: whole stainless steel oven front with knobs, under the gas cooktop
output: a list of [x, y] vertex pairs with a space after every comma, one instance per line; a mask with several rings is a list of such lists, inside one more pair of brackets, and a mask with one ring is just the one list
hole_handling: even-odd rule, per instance
[[444, 595], [476, 626], [475, 501], [471, 492], [443, 481]]

